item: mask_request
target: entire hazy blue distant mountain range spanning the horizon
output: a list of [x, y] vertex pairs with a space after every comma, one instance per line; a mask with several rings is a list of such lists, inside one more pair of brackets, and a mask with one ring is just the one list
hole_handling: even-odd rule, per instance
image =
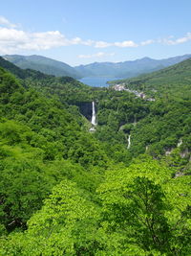
[[84, 77], [133, 78], [140, 74], [158, 71], [159, 69], [177, 64], [180, 61], [191, 58], [191, 55], [164, 59], [146, 57], [117, 63], [95, 62], [75, 67], [52, 58], [35, 55], [6, 55], [3, 58], [6, 58], [20, 68], [30, 68], [57, 77], [69, 76], [74, 79], [80, 79]]

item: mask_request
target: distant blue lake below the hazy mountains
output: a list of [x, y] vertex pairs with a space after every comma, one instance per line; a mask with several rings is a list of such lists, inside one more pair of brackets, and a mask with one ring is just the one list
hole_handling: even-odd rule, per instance
[[93, 87], [107, 87], [109, 84], [107, 81], [121, 80], [122, 78], [110, 78], [110, 77], [87, 77], [79, 81], [88, 84]]

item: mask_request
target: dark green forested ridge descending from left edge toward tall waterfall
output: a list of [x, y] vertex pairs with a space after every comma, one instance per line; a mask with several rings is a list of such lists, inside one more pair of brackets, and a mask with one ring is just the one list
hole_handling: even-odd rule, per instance
[[[81, 103], [84, 99], [83, 90], [86, 91], [89, 89], [88, 85], [85, 85], [74, 78], [54, 77], [32, 69], [21, 69], [2, 57], [0, 57], [0, 67], [16, 76], [25, 88], [33, 87], [37, 91], [43, 91], [44, 95], [49, 95], [48, 97], [50, 97], [50, 94], [56, 94], [64, 105], [66, 105], [66, 101], [70, 103], [78, 101]], [[69, 95], [71, 97], [69, 97]], [[87, 95], [87, 98], [90, 97], [88, 93], [85, 95]], [[91, 103], [91, 100], [89, 102]], [[81, 104], [79, 104], [79, 106], [81, 106]], [[87, 112], [86, 109], [84, 109], [83, 104], [82, 108], [83, 113], [84, 111]], [[88, 117], [90, 118], [90, 109], [88, 110], [88, 113]]]

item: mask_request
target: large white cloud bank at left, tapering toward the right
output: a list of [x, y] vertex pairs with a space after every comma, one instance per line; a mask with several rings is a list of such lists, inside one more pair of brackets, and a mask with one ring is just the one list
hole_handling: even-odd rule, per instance
[[18, 29], [0, 27], [0, 54], [22, 52], [22, 50], [49, 50], [61, 46], [85, 45], [95, 48], [137, 47], [133, 41], [108, 43], [104, 41], [82, 40], [80, 37], [67, 38], [59, 31], [29, 33]]

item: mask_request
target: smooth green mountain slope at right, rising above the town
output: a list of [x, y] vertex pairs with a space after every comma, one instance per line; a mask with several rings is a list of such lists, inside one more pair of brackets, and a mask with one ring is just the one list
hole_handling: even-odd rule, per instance
[[176, 95], [179, 92], [188, 97], [191, 92], [191, 58], [137, 78], [111, 81], [114, 83], [125, 83], [128, 88], [153, 94], [171, 92]]

